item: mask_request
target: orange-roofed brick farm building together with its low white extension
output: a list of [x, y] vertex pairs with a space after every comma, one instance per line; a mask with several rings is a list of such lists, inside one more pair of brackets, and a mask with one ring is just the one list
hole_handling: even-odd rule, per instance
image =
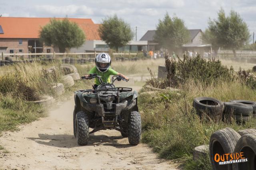
[[[51, 18], [15, 18], [0, 17], [0, 53], [52, 53], [58, 48], [44, 46], [39, 41], [41, 27], [50, 22]], [[63, 20], [64, 18], [55, 18]], [[68, 18], [78, 24], [86, 34], [86, 42], [78, 49], [70, 52], [108, 51], [108, 45], [100, 39], [98, 27], [92, 19]], [[145, 49], [147, 41], [131, 41], [120, 51], [140, 51]]]

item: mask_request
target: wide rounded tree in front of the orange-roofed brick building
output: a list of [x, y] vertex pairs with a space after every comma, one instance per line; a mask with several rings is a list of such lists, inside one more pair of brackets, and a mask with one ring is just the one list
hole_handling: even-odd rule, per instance
[[64, 20], [51, 19], [50, 23], [41, 27], [40, 39], [47, 46], [54, 45], [60, 53], [72, 47], [80, 47], [85, 42], [85, 34], [80, 27], [67, 18]]

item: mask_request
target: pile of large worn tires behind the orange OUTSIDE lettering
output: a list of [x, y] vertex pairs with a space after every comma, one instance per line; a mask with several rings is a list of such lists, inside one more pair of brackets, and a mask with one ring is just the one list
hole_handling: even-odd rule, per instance
[[[210, 137], [209, 151], [213, 170], [255, 170], [256, 129], [244, 129], [236, 132], [234, 129], [226, 127], [215, 131]], [[230, 156], [230, 153], [242, 153], [243, 158], [240, 159], [247, 159], [247, 161], [239, 162], [238, 160], [237, 163], [219, 164], [219, 162], [236, 160], [233, 158], [234, 156]], [[222, 156], [222, 160], [216, 159], [217, 154]]]

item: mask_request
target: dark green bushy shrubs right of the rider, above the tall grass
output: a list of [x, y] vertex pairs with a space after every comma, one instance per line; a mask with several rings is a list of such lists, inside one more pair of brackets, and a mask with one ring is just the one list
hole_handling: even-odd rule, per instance
[[[189, 58], [184, 55], [183, 59], [173, 59], [166, 55], [165, 66], [167, 70], [167, 79], [159, 83], [162, 86], [158, 88], [165, 88], [167, 86], [179, 87], [186, 83], [187, 80], [194, 80], [195, 82], [203, 82], [206, 86], [218, 82], [218, 80], [233, 81], [235, 79], [234, 69], [223, 66], [219, 60], [209, 59], [206, 60], [200, 55], [194, 58]], [[157, 84], [157, 82], [154, 83]], [[147, 84], [152, 85], [152, 81]]]

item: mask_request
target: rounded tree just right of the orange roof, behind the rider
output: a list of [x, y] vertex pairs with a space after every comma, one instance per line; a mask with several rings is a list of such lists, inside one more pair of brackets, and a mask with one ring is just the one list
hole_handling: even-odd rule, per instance
[[100, 38], [105, 41], [110, 48], [118, 51], [134, 37], [130, 25], [116, 15], [108, 17], [102, 21], [99, 27]]

